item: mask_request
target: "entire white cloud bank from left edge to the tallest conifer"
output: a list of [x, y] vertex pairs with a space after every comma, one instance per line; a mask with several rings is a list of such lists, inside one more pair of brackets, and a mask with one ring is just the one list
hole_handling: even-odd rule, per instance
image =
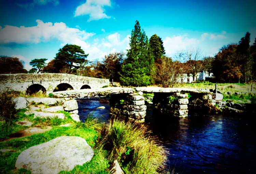
[[[88, 60], [102, 59], [105, 55], [112, 52], [125, 52], [125, 49], [127, 49], [129, 46], [130, 35], [122, 38], [119, 33], [113, 33], [106, 36], [104, 39], [95, 37], [92, 38], [90, 42], [87, 41], [89, 37], [93, 36], [95, 37], [95, 33], [88, 33], [85, 30], [78, 28], [70, 28], [62, 22], [52, 24], [43, 23], [43, 21], [37, 20], [37, 25], [32, 27], [5, 26], [4, 28], [0, 29], [0, 44], [3, 46], [0, 52], [8, 52], [7, 50], [10, 48], [9, 53], [11, 52], [13, 56], [24, 60], [25, 68], [29, 70], [31, 69], [31, 66], [29, 66], [31, 58], [38, 56], [33, 56], [26, 53], [24, 55], [24, 50], [28, 52], [31, 45], [40, 42], [45, 42], [47, 45], [47, 42], [57, 40], [56, 43], [60, 44], [60, 47], [63, 47], [67, 43], [79, 45], [86, 54], [89, 54], [87, 57]], [[21, 45], [29, 43], [29, 45], [16, 49], [9, 47], [8, 44], [10, 43], [17, 43]], [[21, 55], [23, 55], [23, 57]], [[48, 61], [49, 60], [50, 59], [48, 59]]]

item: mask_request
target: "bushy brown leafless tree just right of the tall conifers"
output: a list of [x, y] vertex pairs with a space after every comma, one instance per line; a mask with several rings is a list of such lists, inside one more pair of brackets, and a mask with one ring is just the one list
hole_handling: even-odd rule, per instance
[[161, 62], [156, 65], [156, 82], [162, 87], [173, 87], [182, 73], [182, 63], [172, 61], [169, 57], [161, 58]]

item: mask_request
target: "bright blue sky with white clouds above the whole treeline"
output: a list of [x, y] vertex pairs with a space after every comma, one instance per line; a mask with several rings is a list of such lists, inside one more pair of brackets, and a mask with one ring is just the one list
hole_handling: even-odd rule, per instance
[[166, 55], [199, 48], [214, 56], [228, 43], [256, 37], [255, 0], [0, 0], [0, 55], [25, 62], [52, 60], [65, 44], [76, 44], [89, 60], [125, 52], [135, 21], [148, 38], [162, 38]]

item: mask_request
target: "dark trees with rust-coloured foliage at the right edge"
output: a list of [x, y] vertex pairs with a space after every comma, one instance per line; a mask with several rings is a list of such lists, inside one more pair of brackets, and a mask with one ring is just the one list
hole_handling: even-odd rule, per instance
[[213, 73], [218, 82], [249, 83], [256, 80], [256, 38], [250, 46], [246, 32], [238, 44], [223, 46], [213, 60]]

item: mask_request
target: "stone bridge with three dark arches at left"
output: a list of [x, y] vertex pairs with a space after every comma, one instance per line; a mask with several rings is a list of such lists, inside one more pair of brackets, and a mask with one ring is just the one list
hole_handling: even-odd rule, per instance
[[109, 86], [109, 79], [72, 74], [0, 74], [0, 90], [54, 92], [62, 90], [94, 89]]

